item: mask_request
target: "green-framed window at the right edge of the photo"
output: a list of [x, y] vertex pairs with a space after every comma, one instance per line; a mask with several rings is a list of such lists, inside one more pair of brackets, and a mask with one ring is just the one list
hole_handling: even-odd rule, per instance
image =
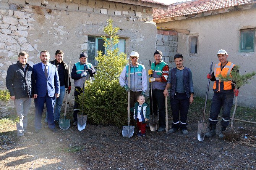
[[254, 52], [255, 30], [241, 30], [239, 52]]

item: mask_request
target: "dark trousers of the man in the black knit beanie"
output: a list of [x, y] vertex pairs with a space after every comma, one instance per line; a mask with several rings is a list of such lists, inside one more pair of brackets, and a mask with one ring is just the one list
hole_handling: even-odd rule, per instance
[[[153, 104], [150, 103], [150, 112], [152, 112], [152, 105], [154, 110], [154, 115], [157, 115], [157, 110], [159, 114], [159, 127], [165, 128], [165, 97], [164, 97], [164, 90], [153, 90]], [[149, 99], [151, 102], [151, 93], [149, 92]]]

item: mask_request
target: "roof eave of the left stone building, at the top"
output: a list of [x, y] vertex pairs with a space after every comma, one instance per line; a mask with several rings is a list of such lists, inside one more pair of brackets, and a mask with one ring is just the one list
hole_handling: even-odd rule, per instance
[[156, 4], [156, 3], [149, 3], [149, 2], [141, 2], [138, 0], [105, 0], [105, 1], [110, 1], [110, 2], [117, 2], [117, 3], [126, 3], [126, 4], [131, 4], [131, 5], [139, 5], [139, 6], [145, 6], [145, 7], [150, 7], [150, 8], [157, 8], [157, 9], [164, 9], [168, 10], [169, 5], [164, 5], [164, 4]]

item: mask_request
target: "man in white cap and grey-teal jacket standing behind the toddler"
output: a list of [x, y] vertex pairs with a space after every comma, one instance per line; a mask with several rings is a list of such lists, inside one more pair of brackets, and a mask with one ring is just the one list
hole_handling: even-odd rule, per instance
[[[147, 74], [145, 66], [138, 63], [139, 53], [132, 51], [131, 55], [131, 85], [128, 87], [128, 65], [123, 69], [120, 77], [120, 85], [127, 91], [130, 91], [130, 107], [134, 106], [139, 95], [146, 95], [147, 90]], [[132, 119], [131, 119], [132, 120]]]

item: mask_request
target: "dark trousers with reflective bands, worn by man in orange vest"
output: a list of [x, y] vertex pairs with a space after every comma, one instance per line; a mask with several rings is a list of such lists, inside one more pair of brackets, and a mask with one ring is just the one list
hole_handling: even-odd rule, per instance
[[218, 115], [220, 113], [220, 109], [222, 107], [222, 120], [220, 125], [227, 127], [230, 119], [230, 110], [233, 105], [234, 93], [233, 91], [230, 93], [221, 93], [214, 92], [212, 98], [212, 106], [210, 112], [209, 122], [211, 124], [218, 123]]

